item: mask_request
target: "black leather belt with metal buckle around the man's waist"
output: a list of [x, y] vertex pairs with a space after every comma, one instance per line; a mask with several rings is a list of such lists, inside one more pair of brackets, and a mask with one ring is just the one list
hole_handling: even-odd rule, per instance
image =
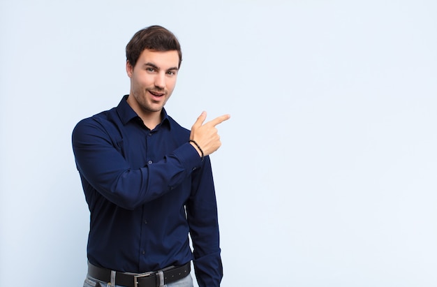
[[[126, 287], [158, 287], [169, 284], [190, 274], [191, 262], [182, 266], [142, 274], [115, 272], [115, 284]], [[88, 275], [104, 282], [111, 281], [111, 270], [88, 263]]]

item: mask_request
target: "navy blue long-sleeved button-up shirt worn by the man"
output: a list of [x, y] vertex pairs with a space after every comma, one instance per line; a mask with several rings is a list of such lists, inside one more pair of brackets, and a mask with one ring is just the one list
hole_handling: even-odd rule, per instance
[[209, 156], [201, 160], [188, 143], [190, 131], [164, 109], [161, 124], [147, 128], [127, 97], [73, 131], [91, 212], [89, 262], [142, 273], [193, 260], [199, 286], [219, 286], [223, 272]]

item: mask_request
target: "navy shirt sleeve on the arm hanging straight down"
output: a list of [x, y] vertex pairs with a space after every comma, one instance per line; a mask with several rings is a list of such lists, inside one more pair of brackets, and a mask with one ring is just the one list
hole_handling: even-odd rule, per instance
[[193, 191], [187, 203], [193, 240], [195, 276], [200, 287], [220, 286], [223, 277], [214, 180], [209, 156], [193, 173]]

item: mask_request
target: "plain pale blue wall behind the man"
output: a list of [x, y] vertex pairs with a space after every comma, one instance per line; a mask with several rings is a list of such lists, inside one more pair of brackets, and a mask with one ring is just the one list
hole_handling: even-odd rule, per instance
[[150, 24], [184, 52], [170, 115], [232, 115], [222, 286], [437, 286], [436, 3], [1, 1], [0, 286], [82, 286], [71, 131]]

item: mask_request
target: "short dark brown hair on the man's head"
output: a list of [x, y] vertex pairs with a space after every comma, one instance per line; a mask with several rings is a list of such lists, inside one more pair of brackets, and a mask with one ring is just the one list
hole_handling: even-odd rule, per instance
[[126, 45], [126, 60], [135, 67], [140, 54], [146, 49], [159, 52], [176, 50], [179, 54], [179, 67], [181, 66], [181, 45], [179, 45], [176, 36], [164, 27], [154, 25], [135, 33]]

